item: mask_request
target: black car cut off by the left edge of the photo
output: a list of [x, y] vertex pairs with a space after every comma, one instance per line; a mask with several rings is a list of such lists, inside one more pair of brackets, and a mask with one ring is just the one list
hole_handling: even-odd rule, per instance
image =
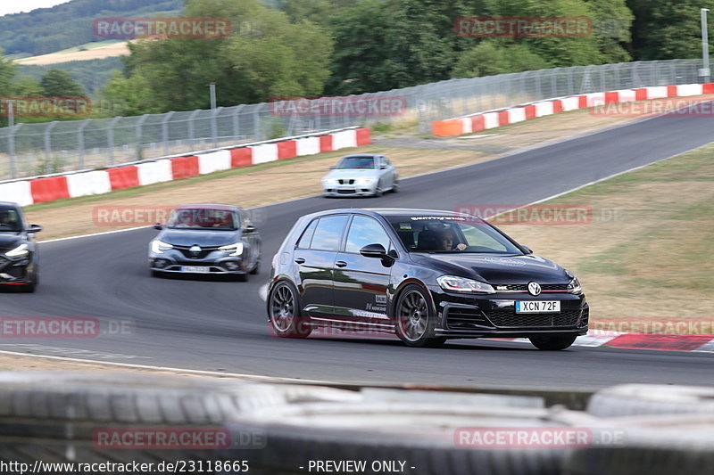
[[40, 225], [28, 225], [20, 205], [0, 201], [0, 285], [34, 292], [39, 283], [39, 257], [34, 233]]

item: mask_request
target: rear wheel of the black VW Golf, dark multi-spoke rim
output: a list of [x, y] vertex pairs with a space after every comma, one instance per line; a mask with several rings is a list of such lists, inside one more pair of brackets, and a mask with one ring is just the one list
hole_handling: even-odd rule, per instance
[[312, 327], [300, 315], [300, 304], [295, 287], [281, 281], [273, 287], [268, 297], [268, 318], [278, 337], [307, 338]]

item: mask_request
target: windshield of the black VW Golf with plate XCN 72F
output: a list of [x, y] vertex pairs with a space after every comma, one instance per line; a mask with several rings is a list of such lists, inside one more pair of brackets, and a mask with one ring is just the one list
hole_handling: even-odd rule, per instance
[[502, 233], [477, 217], [387, 217], [410, 252], [523, 254]]

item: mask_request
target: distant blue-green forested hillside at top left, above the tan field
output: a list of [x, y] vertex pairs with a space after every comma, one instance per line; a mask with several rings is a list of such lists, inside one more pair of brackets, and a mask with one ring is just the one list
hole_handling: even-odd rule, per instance
[[52, 8], [0, 17], [5, 54], [35, 56], [98, 40], [92, 20], [114, 16], [178, 16], [183, 0], [72, 0]]

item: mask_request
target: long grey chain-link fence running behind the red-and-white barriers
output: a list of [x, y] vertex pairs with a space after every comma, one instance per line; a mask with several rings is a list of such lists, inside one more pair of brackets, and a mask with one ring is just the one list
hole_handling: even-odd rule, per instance
[[[376, 123], [418, 123], [552, 97], [701, 81], [701, 60], [635, 61], [450, 79], [423, 86], [339, 98], [265, 102], [214, 111], [17, 124], [0, 129], [0, 180], [188, 153], [280, 136]], [[330, 98], [336, 100], [336, 98]], [[323, 100], [324, 101], [324, 100]], [[359, 102], [374, 107], [359, 107]], [[381, 104], [379, 102], [382, 102]], [[348, 106], [352, 104], [352, 106]], [[387, 104], [387, 111], [380, 109]], [[396, 111], [388, 110], [396, 104]], [[315, 107], [312, 107], [315, 106]]]

